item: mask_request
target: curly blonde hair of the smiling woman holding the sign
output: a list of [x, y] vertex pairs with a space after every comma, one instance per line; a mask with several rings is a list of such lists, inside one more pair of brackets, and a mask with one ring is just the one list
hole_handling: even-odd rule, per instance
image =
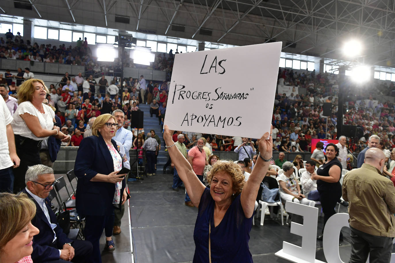
[[241, 190], [243, 190], [245, 183], [245, 177], [243, 172], [241, 172], [239, 164], [235, 164], [233, 161], [228, 160], [218, 160], [218, 162], [211, 166], [210, 174], [207, 175], [207, 183], [211, 185], [211, 180], [213, 180], [213, 176], [217, 172], [225, 172], [231, 177], [232, 188], [233, 191], [235, 191], [234, 197], [241, 194]]

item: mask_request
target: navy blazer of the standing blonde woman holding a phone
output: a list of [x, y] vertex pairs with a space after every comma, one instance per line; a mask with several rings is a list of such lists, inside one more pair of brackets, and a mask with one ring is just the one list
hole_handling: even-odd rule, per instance
[[[115, 141], [111, 140], [111, 142], [118, 151]], [[104, 216], [113, 213], [115, 184], [90, 181], [98, 173], [112, 172], [114, 172], [113, 158], [103, 137], [93, 135], [84, 138], [79, 145], [74, 165], [74, 173], [78, 177], [75, 198], [77, 213], [83, 216]], [[125, 179], [122, 181], [121, 203], [124, 188]]]

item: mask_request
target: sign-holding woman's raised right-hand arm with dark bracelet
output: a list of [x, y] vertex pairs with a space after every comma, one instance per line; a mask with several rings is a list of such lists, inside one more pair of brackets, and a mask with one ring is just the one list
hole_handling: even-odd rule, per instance
[[[259, 141], [260, 154], [256, 159], [254, 169], [241, 191], [240, 201], [246, 218], [250, 218], [254, 213], [255, 200], [258, 195], [259, 186], [267, 173], [267, 168], [269, 168], [270, 162], [263, 159], [269, 160], [273, 157], [272, 128], [273, 126], [270, 129], [270, 136], [269, 132], [266, 132]], [[269, 139], [267, 139], [268, 137]]]

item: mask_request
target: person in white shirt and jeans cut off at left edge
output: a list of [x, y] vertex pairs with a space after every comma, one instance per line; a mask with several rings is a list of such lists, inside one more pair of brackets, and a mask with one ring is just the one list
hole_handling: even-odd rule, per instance
[[[20, 160], [15, 148], [12, 117], [4, 100], [0, 99], [0, 192], [11, 192], [14, 186], [12, 168], [19, 166]], [[6, 134], [6, 136], [4, 136]]]

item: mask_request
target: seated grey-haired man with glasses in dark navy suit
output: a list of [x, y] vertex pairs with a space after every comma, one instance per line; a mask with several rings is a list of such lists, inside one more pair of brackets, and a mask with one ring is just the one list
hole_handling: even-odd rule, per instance
[[56, 180], [53, 169], [43, 164], [30, 166], [25, 176], [23, 192], [36, 204], [36, 216], [32, 224], [40, 230], [33, 237], [32, 259], [34, 263], [86, 262], [92, 254], [89, 241], [69, 239], [56, 221], [47, 198]]

